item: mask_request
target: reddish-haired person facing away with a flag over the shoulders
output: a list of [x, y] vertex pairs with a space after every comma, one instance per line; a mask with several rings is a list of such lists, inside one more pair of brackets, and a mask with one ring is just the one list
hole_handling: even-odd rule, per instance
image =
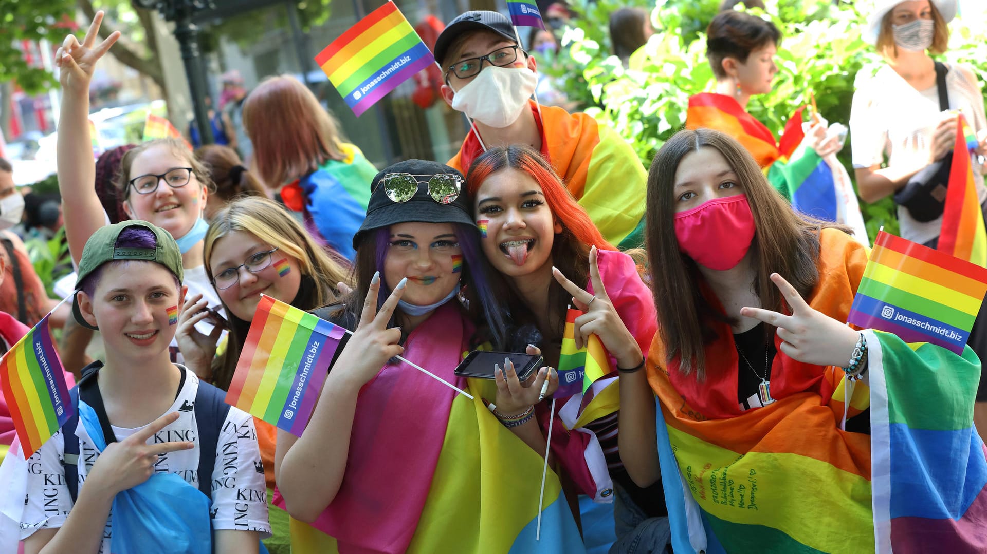
[[352, 261], [370, 200], [373, 164], [342, 142], [332, 115], [294, 77], [268, 77], [244, 101], [261, 180], [324, 245]]

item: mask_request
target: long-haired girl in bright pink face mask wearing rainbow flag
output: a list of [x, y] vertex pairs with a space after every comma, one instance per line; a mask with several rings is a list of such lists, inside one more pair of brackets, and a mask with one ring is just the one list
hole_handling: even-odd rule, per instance
[[[872, 382], [875, 363], [882, 381], [944, 368], [968, 379], [972, 353], [844, 323], [866, 247], [843, 226], [793, 211], [726, 134], [669, 139], [648, 173], [646, 213], [658, 334], [646, 378], [621, 379], [620, 447], [634, 480], [660, 476], [678, 508], [669, 510], [676, 551], [707, 541], [727, 552], [873, 550], [869, 406], [880, 404], [854, 393], [853, 381]], [[972, 395], [924, 393], [943, 413], [972, 412]], [[965, 463], [979, 449], [951, 445], [930, 459]], [[886, 451], [874, 450], [875, 464]], [[830, 536], [815, 503], [839, 506], [847, 532]], [[756, 547], [747, 541], [755, 528]]]

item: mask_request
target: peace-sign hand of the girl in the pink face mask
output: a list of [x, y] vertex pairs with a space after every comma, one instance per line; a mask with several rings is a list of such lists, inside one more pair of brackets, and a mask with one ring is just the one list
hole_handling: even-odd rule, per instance
[[792, 315], [760, 308], [742, 308], [740, 314], [777, 326], [778, 336], [784, 341], [781, 350], [793, 360], [818, 366], [847, 366], [860, 333], [813, 310], [781, 275], [772, 273], [771, 280], [792, 308]]

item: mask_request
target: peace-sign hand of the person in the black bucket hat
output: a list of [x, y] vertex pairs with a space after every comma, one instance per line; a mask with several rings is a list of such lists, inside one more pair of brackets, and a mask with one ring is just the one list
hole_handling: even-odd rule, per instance
[[342, 350], [340, 359], [333, 366], [337, 378], [344, 379], [355, 387], [363, 386], [373, 379], [387, 361], [400, 356], [405, 347], [401, 346], [401, 327], [387, 328], [391, 315], [398, 307], [398, 301], [405, 295], [408, 278], [402, 279], [394, 292], [377, 311], [377, 295], [380, 293], [380, 272], [374, 274], [370, 289], [363, 303], [360, 322]]

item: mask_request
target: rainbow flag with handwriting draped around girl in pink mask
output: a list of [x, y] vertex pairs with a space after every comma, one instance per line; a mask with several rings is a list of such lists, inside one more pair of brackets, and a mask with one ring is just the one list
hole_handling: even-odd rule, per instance
[[[845, 321], [867, 252], [835, 230], [823, 230], [820, 242], [819, 283], [806, 301]], [[733, 335], [726, 324], [717, 331], [705, 381], [681, 376], [676, 360], [665, 363], [660, 335], [648, 353], [668, 511], [689, 520], [689, 540], [676, 551], [691, 543], [707, 552], [873, 552], [870, 437], [839, 429], [843, 371], [779, 350], [771, 371], [776, 401], [743, 412]], [[851, 416], [868, 399], [858, 386]], [[669, 484], [678, 481], [675, 498]], [[693, 530], [704, 526], [706, 533]]]

